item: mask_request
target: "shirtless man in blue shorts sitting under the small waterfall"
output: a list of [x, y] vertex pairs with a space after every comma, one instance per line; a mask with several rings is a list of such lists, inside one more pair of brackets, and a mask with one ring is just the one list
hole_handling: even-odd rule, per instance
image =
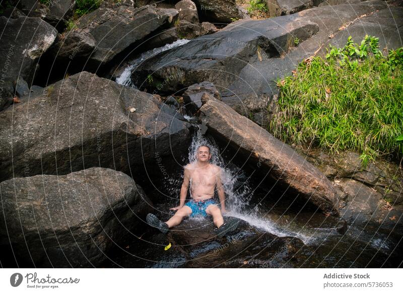
[[[225, 236], [233, 231], [237, 226], [237, 221], [232, 219], [224, 223], [222, 213], [226, 213], [224, 187], [221, 181], [221, 168], [211, 164], [210, 147], [201, 145], [197, 149], [196, 162], [187, 164], [184, 167], [184, 178], [180, 190], [179, 206], [171, 208], [176, 211], [168, 221], [160, 221], [155, 215], [148, 214], [147, 222], [158, 228], [161, 232], [167, 233], [182, 221], [185, 216], [201, 215], [206, 217], [211, 215], [213, 222], [217, 226], [215, 229], [218, 236]], [[190, 184], [191, 200], [185, 204], [187, 189]], [[221, 210], [214, 200], [214, 191], [217, 187], [218, 197], [220, 199]]]

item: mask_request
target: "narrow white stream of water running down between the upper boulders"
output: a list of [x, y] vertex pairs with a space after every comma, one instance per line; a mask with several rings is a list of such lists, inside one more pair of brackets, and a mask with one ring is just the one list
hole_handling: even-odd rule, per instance
[[130, 65], [128, 65], [122, 74], [116, 78], [116, 83], [124, 85], [124, 86], [129, 86], [129, 87], [134, 87], [136, 86], [131, 82], [130, 76], [133, 70], [135, 70], [143, 61], [147, 60], [148, 58], [155, 56], [156, 54], [159, 54], [161, 52], [164, 52], [166, 50], [181, 46], [189, 42], [189, 40], [186, 39], [181, 39], [174, 41], [171, 44], [166, 44], [165, 46], [155, 48], [149, 51], [146, 51], [140, 55], [140, 57], [136, 58], [135, 60], [130, 62]]

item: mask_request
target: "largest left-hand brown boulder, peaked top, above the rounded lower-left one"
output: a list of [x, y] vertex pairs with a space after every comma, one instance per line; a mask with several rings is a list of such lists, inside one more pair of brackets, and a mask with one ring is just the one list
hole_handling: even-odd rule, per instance
[[157, 97], [88, 72], [31, 93], [0, 124], [0, 181], [92, 166], [163, 177], [161, 160], [179, 166], [190, 144], [190, 125]]

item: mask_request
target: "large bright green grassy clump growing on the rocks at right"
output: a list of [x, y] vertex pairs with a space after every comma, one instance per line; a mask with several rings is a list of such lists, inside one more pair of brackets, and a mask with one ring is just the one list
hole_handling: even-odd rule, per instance
[[[278, 80], [279, 101], [269, 130], [300, 146], [361, 152], [363, 166], [403, 154], [403, 48], [383, 56], [378, 38], [351, 37], [330, 47], [326, 60], [302, 62]], [[366, 54], [364, 53], [366, 52]]]

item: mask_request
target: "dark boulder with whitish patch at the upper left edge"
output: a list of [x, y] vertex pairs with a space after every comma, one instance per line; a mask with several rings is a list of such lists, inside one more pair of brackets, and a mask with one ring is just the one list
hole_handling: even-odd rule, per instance
[[19, 79], [31, 86], [39, 58], [53, 44], [57, 31], [33, 17], [0, 17], [0, 31], [0, 110], [3, 110], [11, 104]]

